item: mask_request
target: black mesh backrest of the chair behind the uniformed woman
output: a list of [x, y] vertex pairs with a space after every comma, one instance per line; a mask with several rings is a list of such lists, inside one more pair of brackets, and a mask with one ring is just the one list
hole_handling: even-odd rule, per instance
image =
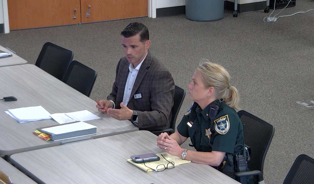
[[244, 142], [251, 148], [248, 167], [250, 170], [260, 170], [263, 174], [264, 160], [275, 128], [244, 110], [239, 111], [238, 115], [244, 127]]

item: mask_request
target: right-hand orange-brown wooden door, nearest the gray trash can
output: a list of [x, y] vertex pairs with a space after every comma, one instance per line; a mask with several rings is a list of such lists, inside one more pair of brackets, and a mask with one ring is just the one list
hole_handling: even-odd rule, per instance
[[[82, 23], [145, 17], [148, 13], [147, 2], [147, 0], [81, 0]], [[89, 17], [86, 16], [88, 9]]]

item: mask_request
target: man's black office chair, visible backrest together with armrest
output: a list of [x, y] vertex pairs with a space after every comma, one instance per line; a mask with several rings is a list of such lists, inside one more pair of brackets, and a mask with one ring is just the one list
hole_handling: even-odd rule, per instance
[[155, 135], [159, 135], [163, 132], [167, 132], [169, 135], [175, 132], [176, 130], [176, 118], [178, 116], [178, 113], [180, 111], [181, 105], [183, 103], [183, 100], [185, 98], [185, 91], [181, 87], [175, 86], [175, 96], [173, 98], [173, 107], [171, 109], [172, 116], [171, 116], [171, 124], [170, 128], [158, 130], [158, 131], [152, 131]]

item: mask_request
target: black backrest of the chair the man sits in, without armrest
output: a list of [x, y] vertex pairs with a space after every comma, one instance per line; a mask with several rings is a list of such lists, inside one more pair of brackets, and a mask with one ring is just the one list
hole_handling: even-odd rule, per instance
[[171, 117], [171, 125], [170, 125], [170, 128], [172, 128], [173, 131], [176, 130], [176, 118], [179, 114], [184, 98], [185, 98], [184, 89], [182, 89], [181, 87], [175, 86], [175, 96], [173, 98], [173, 107], [171, 109], [172, 117]]

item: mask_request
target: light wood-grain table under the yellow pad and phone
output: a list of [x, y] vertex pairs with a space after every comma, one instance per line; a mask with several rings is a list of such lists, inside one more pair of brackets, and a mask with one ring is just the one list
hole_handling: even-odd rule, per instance
[[130, 155], [162, 153], [156, 138], [149, 131], [135, 131], [17, 153], [9, 160], [39, 184], [239, 184], [205, 164], [145, 172], [127, 162]]

